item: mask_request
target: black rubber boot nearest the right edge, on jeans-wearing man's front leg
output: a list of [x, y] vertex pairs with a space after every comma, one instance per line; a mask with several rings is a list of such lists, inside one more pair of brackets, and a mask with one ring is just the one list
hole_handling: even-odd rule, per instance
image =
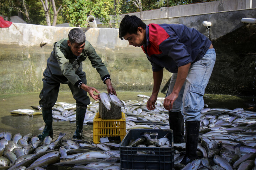
[[187, 165], [197, 159], [197, 145], [199, 136], [200, 121], [186, 120], [186, 154], [182, 164]]

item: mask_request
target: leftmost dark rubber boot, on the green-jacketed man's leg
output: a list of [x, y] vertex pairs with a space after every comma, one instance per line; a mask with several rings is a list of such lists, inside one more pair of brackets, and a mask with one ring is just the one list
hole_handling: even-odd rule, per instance
[[42, 134], [38, 135], [39, 140], [43, 140], [46, 136], [53, 138], [53, 129], [52, 129], [52, 108], [42, 108], [43, 120], [46, 124]]

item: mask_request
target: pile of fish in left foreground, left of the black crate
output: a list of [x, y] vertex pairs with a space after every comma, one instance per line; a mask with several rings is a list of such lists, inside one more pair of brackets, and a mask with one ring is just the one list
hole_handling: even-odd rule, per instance
[[[17, 133], [0, 133], [0, 170], [42, 169], [49, 165], [74, 166], [73, 169], [120, 169], [119, 144], [89, 144], [85, 140], [64, 139], [60, 133], [53, 141], [46, 136], [40, 141], [37, 136], [28, 134], [22, 137]], [[78, 166], [84, 165], [84, 166]]]

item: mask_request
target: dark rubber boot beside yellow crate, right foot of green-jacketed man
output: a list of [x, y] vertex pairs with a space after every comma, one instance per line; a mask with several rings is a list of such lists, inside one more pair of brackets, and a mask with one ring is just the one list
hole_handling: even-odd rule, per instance
[[74, 138], [77, 138], [77, 139], [82, 138], [82, 126], [84, 124], [85, 113], [86, 113], [85, 106], [76, 107], [76, 131], [73, 135]]

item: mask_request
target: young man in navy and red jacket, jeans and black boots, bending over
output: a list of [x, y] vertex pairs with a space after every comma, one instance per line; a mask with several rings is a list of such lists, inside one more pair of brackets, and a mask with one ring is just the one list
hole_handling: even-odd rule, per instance
[[147, 108], [153, 110], [159, 93], [163, 68], [173, 73], [164, 100], [169, 111], [174, 143], [183, 141], [186, 125], [187, 164], [197, 159], [200, 112], [203, 95], [215, 63], [216, 53], [211, 41], [197, 30], [182, 24], [149, 24], [137, 16], [126, 15], [119, 27], [119, 38], [129, 45], [141, 47], [153, 70], [153, 92]]

